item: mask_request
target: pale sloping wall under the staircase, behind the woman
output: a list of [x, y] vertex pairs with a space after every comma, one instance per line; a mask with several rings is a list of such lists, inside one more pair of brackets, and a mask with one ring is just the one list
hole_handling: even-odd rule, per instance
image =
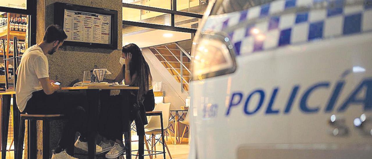
[[180, 109], [181, 106], [185, 106], [185, 99], [189, 94], [186, 91], [181, 92], [179, 82], [174, 79], [150, 49], [142, 49], [142, 54], [150, 66], [153, 81], [162, 82], [161, 90], [165, 94], [164, 103], [171, 103], [171, 110]]

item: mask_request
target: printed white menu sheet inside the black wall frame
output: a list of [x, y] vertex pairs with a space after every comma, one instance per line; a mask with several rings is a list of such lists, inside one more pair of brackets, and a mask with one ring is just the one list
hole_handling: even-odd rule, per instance
[[111, 44], [111, 16], [64, 10], [67, 41]]

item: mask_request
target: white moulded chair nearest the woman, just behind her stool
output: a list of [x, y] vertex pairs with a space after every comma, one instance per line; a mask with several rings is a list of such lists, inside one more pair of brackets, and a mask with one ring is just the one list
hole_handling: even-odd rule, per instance
[[[169, 123], [170, 103], [158, 103], [156, 107], [154, 108], [154, 111], [162, 111], [164, 132], [169, 131], [167, 126]], [[157, 140], [158, 142], [162, 142], [161, 137], [160, 139], [155, 139], [156, 134], [161, 134], [160, 116], [150, 117], [148, 124], [145, 126], [145, 134], [151, 135], [151, 139], [152, 139], [151, 150], [154, 148], [154, 150], [156, 151], [155, 140]], [[164, 142], [163, 144], [167, 148], [169, 157], [172, 158], [172, 156], [170, 155], [167, 143]], [[155, 155], [155, 158], [156, 158], [156, 155]]]

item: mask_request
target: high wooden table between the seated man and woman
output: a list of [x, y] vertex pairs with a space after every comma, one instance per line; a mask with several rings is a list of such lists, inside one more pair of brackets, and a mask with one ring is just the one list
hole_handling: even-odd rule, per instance
[[[87, 115], [88, 115], [88, 158], [96, 157], [96, 134], [98, 131], [98, 116], [100, 108], [100, 94], [102, 90], [120, 90], [123, 95], [124, 104], [128, 103], [128, 93], [130, 90], [138, 90], [139, 87], [129, 87], [125, 85], [115, 86], [84, 86], [84, 87], [62, 87], [62, 90], [80, 90], [87, 96]], [[123, 109], [123, 111], [125, 111]], [[123, 112], [124, 113], [124, 112]], [[130, 130], [130, 124], [128, 125]], [[130, 133], [125, 134], [125, 154], [126, 158], [131, 158], [131, 138]]]

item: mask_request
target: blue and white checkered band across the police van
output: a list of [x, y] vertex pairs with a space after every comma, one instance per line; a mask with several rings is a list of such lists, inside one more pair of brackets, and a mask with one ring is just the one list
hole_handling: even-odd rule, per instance
[[228, 33], [237, 55], [372, 30], [372, 0], [353, 6], [344, 6], [344, 0], [278, 0], [228, 17], [219, 17], [215, 24], [208, 27], [222, 31], [245, 20], [267, 17], [296, 6], [312, 6], [314, 3], [332, 3], [329, 5], [332, 7], [272, 16], [265, 22]]

